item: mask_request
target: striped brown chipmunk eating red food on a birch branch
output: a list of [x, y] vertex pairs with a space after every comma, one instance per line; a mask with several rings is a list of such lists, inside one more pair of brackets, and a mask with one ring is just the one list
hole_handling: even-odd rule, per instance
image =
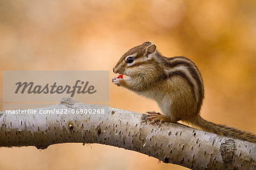
[[114, 77], [112, 82], [139, 95], [154, 99], [162, 114], [148, 111], [147, 119], [156, 121], [183, 121], [204, 131], [256, 143], [256, 136], [246, 131], [208, 122], [201, 118], [204, 84], [195, 63], [186, 57], [167, 58], [156, 45], [144, 42], [127, 51], [113, 68], [114, 73], [128, 78]]

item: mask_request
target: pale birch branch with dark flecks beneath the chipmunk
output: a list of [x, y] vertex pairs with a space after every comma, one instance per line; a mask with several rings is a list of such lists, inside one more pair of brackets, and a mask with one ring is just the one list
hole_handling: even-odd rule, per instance
[[100, 143], [153, 156], [192, 169], [255, 169], [256, 144], [179, 123], [150, 125], [145, 114], [78, 103], [64, 98], [35, 109], [107, 109], [105, 114], [6, 114], [0, 112], [0, 146]]

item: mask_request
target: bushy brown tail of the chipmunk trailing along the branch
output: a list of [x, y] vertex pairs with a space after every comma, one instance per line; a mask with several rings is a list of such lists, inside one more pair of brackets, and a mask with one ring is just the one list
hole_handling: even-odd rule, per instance
[[240, 140], [246, 140], [247, 142], [256, 143], [256, 135], [251, 134], [250, 132], [238, 130], [233, 127], [227, 127], [225, 125], [219, 125], [212, 122], [208, 122], [200, 116], [194, 119], [192, 122], [193, 125], [201, 128], [204, 131], [212, 132], [214, 134], [236, 138]]

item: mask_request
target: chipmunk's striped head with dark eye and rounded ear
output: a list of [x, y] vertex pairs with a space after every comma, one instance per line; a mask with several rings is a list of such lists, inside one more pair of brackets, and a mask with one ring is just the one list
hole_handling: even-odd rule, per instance
[[129, 77], [150, 72], [153, 69], [152, 65], [154, 65], [156, 53], [155, 44], [144, 42], [127, 51], [117, 62], [117, 65], [113, 68], [113, 72]]

